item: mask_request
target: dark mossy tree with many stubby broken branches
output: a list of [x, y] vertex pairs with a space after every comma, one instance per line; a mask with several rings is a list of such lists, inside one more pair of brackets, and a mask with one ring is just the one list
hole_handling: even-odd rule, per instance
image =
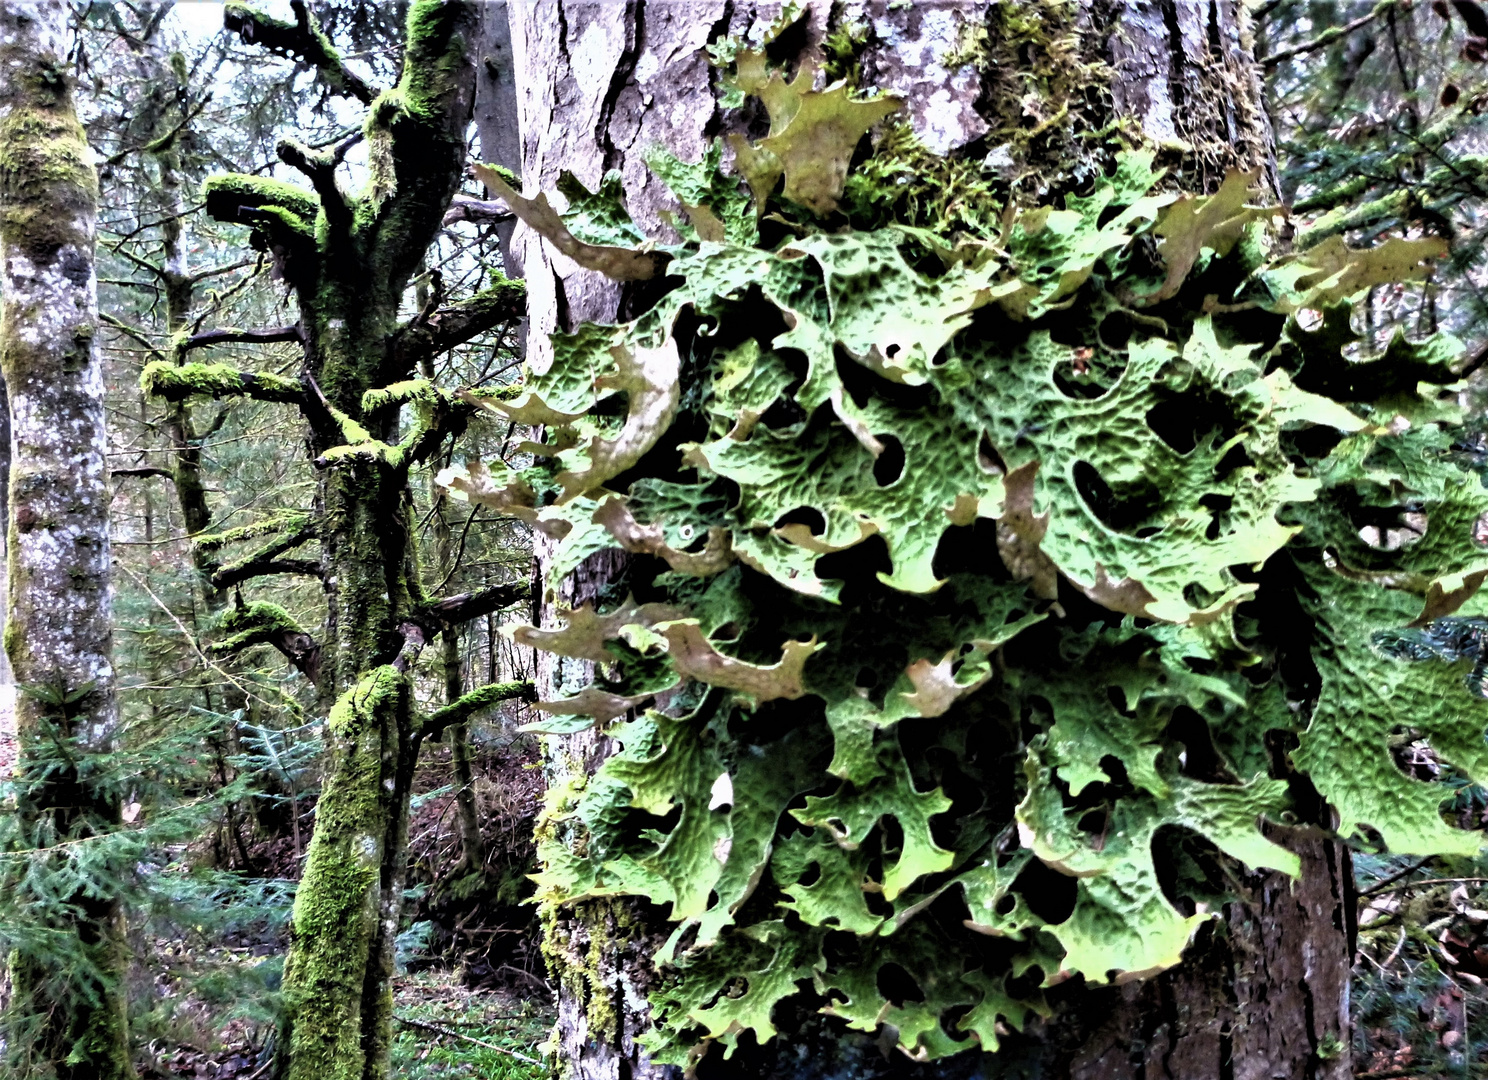
[[[205, 186], [207, 211], [248, 225], [295, 290], [295, 336], [305, 347], [301, 378], [158, 361], [141, 381], [165, 400], [244, 394], [296, 405], [310, 422], [323, 478], [315, 533], [327, 589], [326, 632], [315, 641], [281, 610], [244, 605], [225, 625], [234, 637], [220, 650], [275, 644], [320, 686], [323, 699], [336, 698], [327, 724], [330, 775], [295, 901], [281, 1073], [372, 1077], [387, 1071], [388, 980], [420, 744], [519, 690], [479, 687], [427, 723], [415, 713], [409, 671], [426, 641], [513, 602], [524, 589], [501, 585], [473, 595], [426, 597], [409, 470], [463, 430], [470, 406], [409, 376], [424, 360], [512, 318], [521, 290], [496, 275], [488, 289], [460, 303], [446, 306], [433, 289], [421, 311], [405, 306], [405, 289], [463, 177], [475, 85], [472, 7], [411, 6], [402, 74], [382, 94], [342, 64], [305, 6], [296, 7], [293, 24], [238, 6], [226, 10], [226, 19], [246, 39], [318, 68], [338, 94], [368, 106], [369, 119], [365, 129], [323, 150], [280, 141], [280, 158], [304, 173], [312, 190], [243, 174]], [[336, 171], [363, 138], [368, 179], [351, 195]], [[417, 421], [400, 433], [405, 405]], [[299, 522], [280, 525], [268, 534], [289, 537], [299, 528]]]

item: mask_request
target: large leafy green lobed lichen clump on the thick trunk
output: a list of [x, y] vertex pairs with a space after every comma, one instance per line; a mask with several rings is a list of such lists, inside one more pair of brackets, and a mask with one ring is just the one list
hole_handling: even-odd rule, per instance
[[[714, 208], [741, 193], [673, 171]], [[656, 1061], [768, 1040], [790, 997], [917, 1061], [995, 1050], [1040, 986], [1177, 964], [1238, 867], [1298, 873], [1263, 832], [1308, 812], [1292, 768], [1345, 838], [1476, 849], [1440, 809], [1488, 780], [1460, 350], [1381, 350], [1350, 318], [1440, 248], [1257, 266], [1274, 211], [1247, 184], [1164, 192], [1144, 152], [1062, 205], [967, 187], [918, 226], [696, 229], [671, 292], [557, 338], [503, 406], [588, 464], [524, 503], [555, 565], [634, 553], [629, 598], [513, 638], [595, 666], [539, 704], [618, 744], [551, 803], [539, 900], [585, 995], [589, 915], [667, 912]], [[475, 503], [534, 494], [478, 473]], [[1402, 772], [1403, 739], [1436, 777]]]

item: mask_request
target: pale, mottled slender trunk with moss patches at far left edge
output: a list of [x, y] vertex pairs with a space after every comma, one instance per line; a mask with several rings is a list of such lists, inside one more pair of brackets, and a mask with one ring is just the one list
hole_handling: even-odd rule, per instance
[[[28, 846], [86, 839], [119, 824], [107, 777], [79, 762], [116, 738], [109, 600], [109, 473], [103, 372], [94, 348], [98, 196], [73, 106], [68, 7], [0, 10], [0, 369], [10, 403], [6, 653], [16, 683], [16, 814]], [[104, 848], [106, 851], [106, 848]], [[40, 930], [74, 936], [65, 973], [21, 948], [12, 960], [7, 1053], [28, 1076], [132, 1074], [124, 1012], [124, 924], [107, 879], [128, 867], [40, 855], [64, 885], [48, 903], [10, 878], [12, 899], [51, 912]]]

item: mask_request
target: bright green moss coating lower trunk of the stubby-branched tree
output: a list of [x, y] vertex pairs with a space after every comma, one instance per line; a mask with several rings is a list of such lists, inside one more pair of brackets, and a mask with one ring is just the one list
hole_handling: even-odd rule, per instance
[[[391, 794], [384, 756], [411, 708], [408, 678], [371, 671], [332, 707], [333, 765], [315, 808], [305, 876], [295, 894], [295, 939], [284, 965], [286, 1080], [362, 1080], [369, 1025], [390, 1010], [363, 988], [376, 937]], [[385, 1041], [385, 1038], [382, 1040]]]

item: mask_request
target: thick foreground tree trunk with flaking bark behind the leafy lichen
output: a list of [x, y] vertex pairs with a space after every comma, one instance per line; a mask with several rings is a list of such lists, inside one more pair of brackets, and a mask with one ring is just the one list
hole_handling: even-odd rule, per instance
[[[777, 12], [775, 4], [701, 1], [513, 6], [527, 193], [551, 192], [561, 170], [591, 190], [618, 170], [631, 216], [649, 235], [665, 235], [659, 211], [677, 207], [641, 155], [664, 144], [698, 161], [714, 135], [741, 122], [716, 104], [717, 74], [704, 49], [762, 30]], [[870, 27], [856, 51], [863, 86], [905, 95], [905, 113], [930, 150], [985, 158], [1024, 202], [1058, 202], [1083, 190], [1109, 161], [1089, 134], [1113, 123], [1156, 144], [1176, 186], [1214, 190], [1226, 170], [1262, 170], [1275, 193], [1272, 137], [1238, 0], [869, 0], [830, 12], [811, 4], [771, 46], [771, 58], [820, 60], [823, 39], [848, 24]], [[1068, 48], [1071, 37], [1076, 48]], [[942, 64], [952, 52], [958, 61]], [[551, 363], [549, 332], [628, 318], [644, 303], [635, 287], [580, 269], [527, 229], [518, 231], [515, 248], [528, 284], [528, 357], [537, 372]], [[539, 536], [539, 580], [551, 550]], [[546, 582], [534, 598], [534, 622], [554, 625], [557, 604], [580, 605], [622, 567], [623, 556], [601, 553], [570, 580]], [[539, 655], [543, 698], [571, 692], [588, 677], [582, 660]], [[551, 736], [551, 782], [592, 771], [610, 750], [592, 733]], [[1286, 768], [1278, 765], [1281, 775]], [[1275, 833], [1302, 857], [1301, 882], [1274, 873], [1237, 882], [1240, 900], [1225, 919], [1201, 931], [1180, 967], [1158, 977], [1054, 989], [1054, 1018], [1004, 1040], [997, 1065], [1082, 1080], [1351, 1076], [1353, 873], [1344, 846], [1317, 839], [1332, 824], [1327, 808], [1312, 811], [1311, 830]], [[644, 992], [656, 977], [650, 957], [667, 933], [661, 909], [638, 901], [580, 901], [551, 916], [548, 955], [559, 985], [567, 1076], [671, 1073], [652, 1065], [637, 1044], [647, 1028]], [[726, 1064], [714, 1053], [698, 1074], [815, 1080], [848, 1065], [860, 1070], [854, 1076], [998, 1074], [975, 1053], [933, 1065], [885, 1059], [869, 1037], [812, 1015], [777, 1015], [775, 1023], [781, 1034], [766, 1046], [741, 1047]]]

